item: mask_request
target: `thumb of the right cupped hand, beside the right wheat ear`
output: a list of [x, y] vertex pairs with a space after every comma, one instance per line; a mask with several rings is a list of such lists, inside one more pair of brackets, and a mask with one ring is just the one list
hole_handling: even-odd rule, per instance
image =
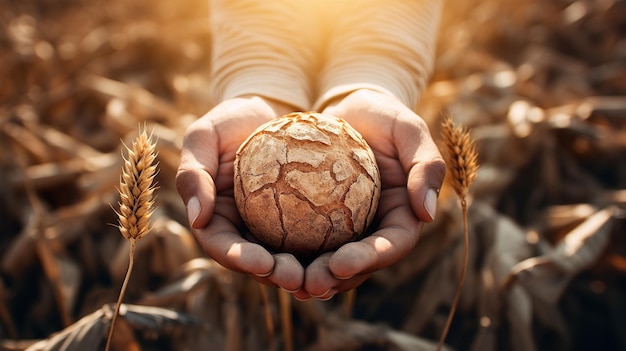
[[393, 129], [398, 158], [407, 179], [409, 200], [415, 215], [431, 222], [437, 213], [437, 197], [443, 184], [446, 165], [426, 123], [408, 111]]

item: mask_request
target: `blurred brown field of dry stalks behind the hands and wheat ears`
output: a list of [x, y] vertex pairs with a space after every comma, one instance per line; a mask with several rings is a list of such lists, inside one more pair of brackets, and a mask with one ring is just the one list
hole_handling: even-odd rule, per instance
[[[122, 141], [144, 123], [159, 209], [115, 349], [288, 348], [276, 291], [200, 252], [173, 186], [210, 108], [207, 19], [206, 0], [1, 0], [0, 350], [103, 348], [128, 264]], [[436, 137], [442, 113], [472, 128], [481, 164], [451, 349], [626, 350], [625, 34], [623, 0], [447, 0], [418, 111]], [[462, 252], [444, 188], [354, 299], [292, 301], [295, 349], [433, 350]]]

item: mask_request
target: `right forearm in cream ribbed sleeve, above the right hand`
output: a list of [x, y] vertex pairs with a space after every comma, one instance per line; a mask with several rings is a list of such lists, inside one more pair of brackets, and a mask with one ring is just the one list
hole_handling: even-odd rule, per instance
[[431, 70], [440, 0], [340, 2], [314, 109], [359, 89], [414, 108]]

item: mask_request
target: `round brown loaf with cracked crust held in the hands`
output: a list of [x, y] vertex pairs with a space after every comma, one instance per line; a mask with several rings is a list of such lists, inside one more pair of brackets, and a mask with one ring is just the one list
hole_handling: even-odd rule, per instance
[[328, 114], [291, 113], [262, 125], [234, 166], [235, 201], [250, 232], [301, 259], [361, 238], [378, 207], [372, 150]]

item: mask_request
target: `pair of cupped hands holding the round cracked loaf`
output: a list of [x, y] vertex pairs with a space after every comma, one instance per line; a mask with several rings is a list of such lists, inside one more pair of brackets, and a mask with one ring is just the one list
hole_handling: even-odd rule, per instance
[[211, 258], [299, 300], [328, 300], [413, 249], [423, 223], [435, 217], [445, 164], [424, 120], [395, 97], [357, 90], [331, 103], [322, 112], [350, 123], [376, 156], [382, 185], [377, 227], [304, 267], [291, 254], [246, 240], [233, 197], [233, 162], [241, 143], [261, 124], [290, 112], [258, 96], [220, 103], [188, 127], [176, 186], [193, 234]]

